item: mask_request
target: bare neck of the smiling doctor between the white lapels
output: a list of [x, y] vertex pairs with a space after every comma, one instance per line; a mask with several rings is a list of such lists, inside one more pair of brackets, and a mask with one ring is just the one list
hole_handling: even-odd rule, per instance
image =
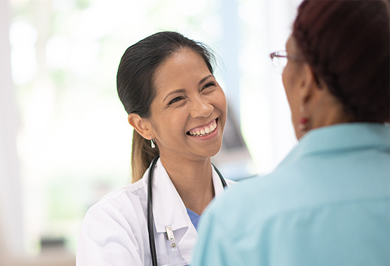
[[196, 214], [202, 214], [215, 195], [210, 158], [166, 160], [161, 156], [161, 164], [168, 172], [185, 207]]

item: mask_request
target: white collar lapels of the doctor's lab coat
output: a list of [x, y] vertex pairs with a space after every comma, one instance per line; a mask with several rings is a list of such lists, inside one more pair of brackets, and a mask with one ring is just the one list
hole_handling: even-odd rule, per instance
[[[148, 171], [144, 174], [147, 182]], [[188, 228], [192, 225], [187, 214], [187, 209], [175, 186], [173, 186], [166, 169], [160, 159], [154, 168], [153, 176], [153, 216], [156, 232], [166, 232], [166, 226], [170, 225], [173, 230]], [[217, 172], [213, 168], [213, 184], [215, 196], [223, 192], [224, 188]]]

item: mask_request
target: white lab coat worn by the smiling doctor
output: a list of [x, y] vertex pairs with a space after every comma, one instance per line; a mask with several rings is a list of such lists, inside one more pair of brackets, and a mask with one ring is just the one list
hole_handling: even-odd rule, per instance
[[[77, 266], [152, 265], [147, 230], [148, 172], [140, 181], [109, 193], [88, 210], [77, 247]], [[228, 186], [235, 183], [226, 182]], [[222, 193], [224, 188], [214, 169], [213, 184], [215, 196]], [[154, 169], [153, 214], [159, 266], [188, 265], [198, 233], [160, 160]], [[173, 230], [174, 241], [166, 239], [167, 225]]]

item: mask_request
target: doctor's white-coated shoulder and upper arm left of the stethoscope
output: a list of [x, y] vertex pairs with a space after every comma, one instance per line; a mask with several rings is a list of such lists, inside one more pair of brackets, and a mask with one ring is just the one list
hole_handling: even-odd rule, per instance
[[79, 264], [102, 265], [121, 258], [130, 265], [143, 265], [143, 258], [134, 254], [144, 246], [144, 195], [140, 181], [113, 190], [88, 209], [78, 241]]

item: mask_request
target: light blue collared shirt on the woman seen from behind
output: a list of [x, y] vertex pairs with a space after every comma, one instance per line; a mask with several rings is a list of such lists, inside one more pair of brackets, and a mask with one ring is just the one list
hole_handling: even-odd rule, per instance
[[390, 130], [311, 130], [202, 214], [193, 266], [390, 265]]

